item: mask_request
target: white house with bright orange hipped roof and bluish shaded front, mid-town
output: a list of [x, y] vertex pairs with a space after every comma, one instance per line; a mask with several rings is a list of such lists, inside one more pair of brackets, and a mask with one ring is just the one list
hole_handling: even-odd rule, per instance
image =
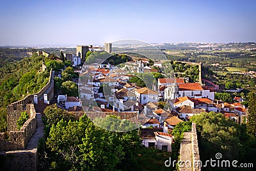
[[134, 91], [136, 94], [137, 100], [140, 103], [147, 103], [148, 101], [157, 102], [158, 101], [158, 93], [156, 91], [152, 91], [147, 87], [143, 87], [141, 89], [136, 89]]

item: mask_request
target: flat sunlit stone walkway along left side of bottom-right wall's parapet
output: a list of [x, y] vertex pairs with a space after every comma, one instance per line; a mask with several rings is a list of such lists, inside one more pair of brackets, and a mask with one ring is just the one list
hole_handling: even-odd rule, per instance
[[[184, 166], [180, 167], [180, 170], [193, 170], [191, 131], [184, 132], [183, 140], [180, 144], [180, 161], [183, 161], [182, 166]], [[191, 165], [186, 161], [190, 161]]]

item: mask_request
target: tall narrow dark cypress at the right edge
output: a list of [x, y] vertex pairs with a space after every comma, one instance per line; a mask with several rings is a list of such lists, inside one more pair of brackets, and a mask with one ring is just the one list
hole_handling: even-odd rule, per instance
[[247, 133], [256, 137], [256, 95], [249, 93]]

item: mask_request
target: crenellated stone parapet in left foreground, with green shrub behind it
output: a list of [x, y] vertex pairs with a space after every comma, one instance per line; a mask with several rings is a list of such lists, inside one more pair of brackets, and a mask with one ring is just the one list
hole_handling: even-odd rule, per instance
[[[19, 105], [18, 106], [19, 110], [12, 110], [12, 114], [15, 115], [15, 117], [12, 117], [12, 118], [17, 119], [16, 116], [20, 114], [20, 111], [22, 110], [21, 107], [22, 105]], [[26, 121], [26, 123], [23, 124], [20, 130], [17, 130], [17, 124], [15, 123], [16, 125], [15, 129], [13, 127], [14, 130], [9, 132], [10, 140], [6, 141], [5, 134], [4, 133], [0, 134], [0, 151], [6, 151], [6, 150], [12, 150], [12, 149], [25, 149], [26, 145], [28, 144], [28, 140], [36, 131], [36, 111], [33, 104], [27, 105], [27, 112], [29, 112], [29, 119]], [[13, 122], [14, 122], [14, 119], [10, 121], [10, 123], [13, 123]]]

